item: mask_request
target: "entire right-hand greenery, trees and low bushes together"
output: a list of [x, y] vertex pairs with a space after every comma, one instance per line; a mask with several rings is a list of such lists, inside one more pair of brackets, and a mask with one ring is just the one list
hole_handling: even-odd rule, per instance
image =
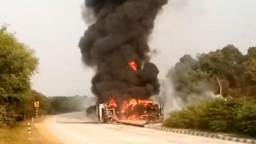
[[170, 112], [166, 127], [256, 136], [256, 47], [245, 55], [232, 44], [184, 55], [167, 77], [174, 94], [193, 104]]

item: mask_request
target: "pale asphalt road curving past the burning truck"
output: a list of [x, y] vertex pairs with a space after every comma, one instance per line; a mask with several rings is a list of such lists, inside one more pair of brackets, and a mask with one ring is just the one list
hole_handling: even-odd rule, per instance
[[121, 124], [98, 124], [86, 118], [84, 112], [51, 117], [45, 124], [54, 137], [67, 144], [238, 144]]

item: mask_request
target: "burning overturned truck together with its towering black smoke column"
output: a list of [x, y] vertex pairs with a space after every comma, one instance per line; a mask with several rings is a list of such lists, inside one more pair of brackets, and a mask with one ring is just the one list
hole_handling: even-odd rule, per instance
[[[91, 24], [79, 41], [82, 60], [95, 69], [92, 93], [96, 106], [86, 110], [98, 120], [163, 118], [158, 95], [158, 68], [150, 62], [148, 36], [167, 0], [86, 0]], [[83, 13], [84, 19], [90, 13]], [[94, 114], [95, 114], [94, 113]]]

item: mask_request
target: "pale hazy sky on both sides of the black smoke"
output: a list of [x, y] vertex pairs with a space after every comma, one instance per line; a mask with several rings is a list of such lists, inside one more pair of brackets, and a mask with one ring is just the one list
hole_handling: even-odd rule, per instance
[[[83, 0], [0, 0], [0, 25], [36, 50], [40, 59], [33, 88], [46, 96], [90, 95], [94, 75], [77, 46], [86, 30]], [[160, 77], [185, 54], [234, 44], [241, 52], [256, 46], [255, 0], [171, 0], [158, 15], [150, 46]]]

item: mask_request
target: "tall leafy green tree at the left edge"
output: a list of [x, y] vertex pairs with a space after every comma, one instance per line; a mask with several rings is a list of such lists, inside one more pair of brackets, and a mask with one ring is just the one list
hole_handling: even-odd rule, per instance
[[[30, 91], [30, 77], [36, 72], [34, 51], [19, 42], [5, 27], [0, 29], [0, 105], [1, 113], [22, 114], [22, 104]], [[9, 114], [7, 114], [9, 115]], [[1, 118], [0, 118], [1, 121]], [[2, 118], [3, 121], [3, 118]]]

